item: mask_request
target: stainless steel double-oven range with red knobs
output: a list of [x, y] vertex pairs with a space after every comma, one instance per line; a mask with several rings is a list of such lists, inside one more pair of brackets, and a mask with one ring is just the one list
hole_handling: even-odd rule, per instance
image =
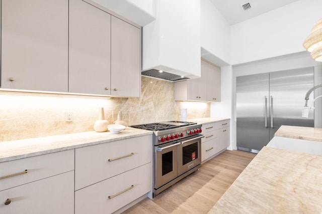
[[153, 131], [153, 196], [200, 168], [201, 124], [169, 121], [131, 127]]

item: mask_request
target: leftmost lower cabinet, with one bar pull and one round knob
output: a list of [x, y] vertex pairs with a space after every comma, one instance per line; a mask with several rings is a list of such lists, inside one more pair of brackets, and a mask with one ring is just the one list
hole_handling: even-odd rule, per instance
[[73, 149], [0, 163], [0, 213], [73, 212]]

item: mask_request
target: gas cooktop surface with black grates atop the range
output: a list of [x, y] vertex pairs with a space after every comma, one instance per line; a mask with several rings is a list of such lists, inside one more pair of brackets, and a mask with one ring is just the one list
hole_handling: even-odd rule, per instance
[[185, 122], [185, 121], [168, 121], [168, 122], [159, 122], [159, 123], [147, 123], [141, 125], [133, 125], [130, 127], [139, 128], [149, 131], [162, 131], [162, 130], [169, 130], [178, 127], [184, 127], [189, 125], [197, 124], [195, 122]]

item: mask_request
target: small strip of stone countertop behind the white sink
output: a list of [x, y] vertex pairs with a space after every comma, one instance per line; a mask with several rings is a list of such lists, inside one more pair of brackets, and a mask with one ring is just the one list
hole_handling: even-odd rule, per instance
[[274, 136], [322, 142], [322, 128], [281, 126]]

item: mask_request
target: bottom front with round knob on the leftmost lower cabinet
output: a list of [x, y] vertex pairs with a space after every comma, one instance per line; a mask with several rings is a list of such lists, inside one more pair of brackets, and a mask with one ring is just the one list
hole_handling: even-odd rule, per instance
[[[29, 173], [29, 172], [28, 172]], [[0, 191], [0, 213], [74, 213], [74, 172]], [[10, 203], [5, 205], [5, 201]]]

